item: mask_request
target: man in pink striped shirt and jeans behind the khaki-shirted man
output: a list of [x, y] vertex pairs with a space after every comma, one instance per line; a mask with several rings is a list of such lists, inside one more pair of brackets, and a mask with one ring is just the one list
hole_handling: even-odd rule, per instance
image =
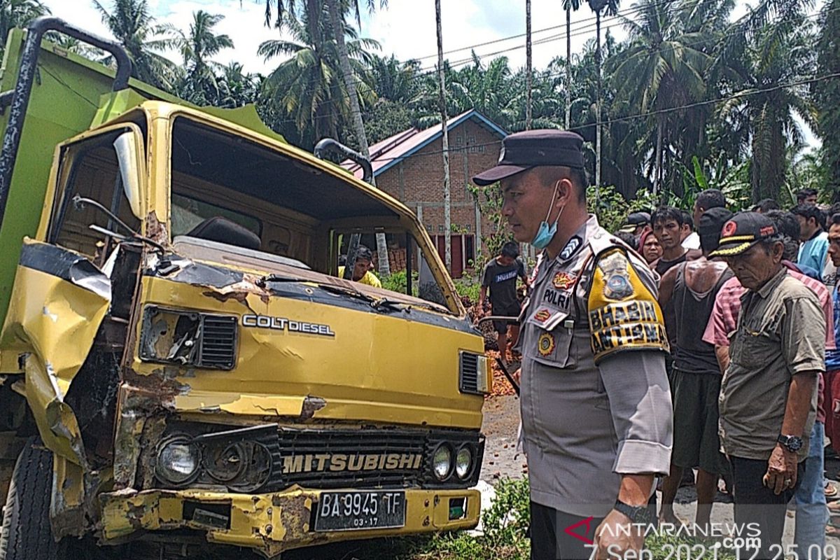
[[[799, 251], [798, 222], [790, 212], [773, 210], [766, 216], [774, 222], [776, 229], [785, 239], [785, 253], [782, 261], [788, 269], [788, 274], [800, 280], [814, 292], [820, 301], [822, 311], [826, 316], [826, 349], [833, 350], [837, 346], [834, 341], [834, 311], [832, 296], [821, 281], [803, 275], [791, 262]], [[722, 285], [717, 292], [715, 305], [712, 307], [711, 317], [703, 333], [703, 341], [715, 345], [717, 363], [724, 372], [729, 365], [729, 338], [738, 325], [738, 313], [741, 311], [741, 296], [746, 289], [738, 281], [731, 278]], [[802, 479], [799, 489], [794, 496], [796, 504], [796, 526], [794, 542], [799, 550], [808, 550], [812, 544], [822, 547], [825, 545], [825, 527], [828, 521], [826, 507], [826, 484], [823, 478], [823, 439], [825, 437], [826, 411], [825, 379], [820, 374], [817, 388], [816, 422], [811, 430], [811, 446], [806, 458], [806, 475]]]

